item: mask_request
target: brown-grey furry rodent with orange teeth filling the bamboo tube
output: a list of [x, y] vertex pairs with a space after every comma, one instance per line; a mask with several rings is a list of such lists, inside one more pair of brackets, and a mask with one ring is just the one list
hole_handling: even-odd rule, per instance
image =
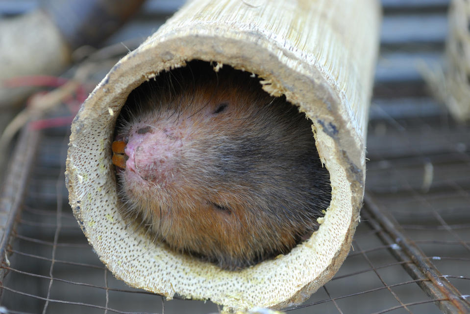
[[125, 214], [222, 269], [288, 253], [331, 200], [311, 125], [249, 73], [199, 61], [161, 73], [132, 91], [117, 121]]

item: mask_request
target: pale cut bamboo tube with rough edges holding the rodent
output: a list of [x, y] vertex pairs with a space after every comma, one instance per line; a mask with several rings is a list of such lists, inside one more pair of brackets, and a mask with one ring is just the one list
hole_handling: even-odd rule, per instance
[[[128, 285], [172, 298], [210, 299], [224, 311], [283, 308], [331, 279], [349, 251], [365, 179], [365, 136], [377, 53], [374, 0], [194, 0], [126, 55], [72, 125], [67, 186], [75, 217], [101, 261]], [[332, 195], [324, 222], [289, 254], [227, 271], [126, 228], [111, 142], [127, 95], [159, 72], [198, 59], [264, 79], [313, 122]]]

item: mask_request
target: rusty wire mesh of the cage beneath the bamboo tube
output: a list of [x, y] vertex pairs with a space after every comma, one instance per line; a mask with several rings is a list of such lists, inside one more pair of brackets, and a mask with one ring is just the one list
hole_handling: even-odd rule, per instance
[[[468, 311], [469, 131], [445, 113], [372, 120], [363, 222], [353, 248], [333, 280], [286, 312], [435, 313], [436, 304], [449, 313], [459, 306]], [[66, 128], [46, 130], [38, 137], [25, 131], [29, 137], [19, 141], [19, 155], [31, 156], [31, 142], [38, 144], [38, 152], [25, 181], [22, 215], [6, 249], [10, 257], [2, 268], [7, 272], [2, 306], [10, 313], [218, 312], [210, 302], [166, 301], [131, 289], [100, 263], [67, 203], [67, 133]], [[29, 144], [21, 145], [25, 140]], [[21, 162], [14, 158], [14, 164]], [[24, 165], [10, 167], [16, 168]], [[388, 229], [380, 217], [386, 217]], [[403, 241], [421, 253], [404, 254]], [[420, 265], [417, 256], [431, 267]], [[438, 282], [426, 275], [429, 268]], [[436, 291], [442, 282], [450, 294]]]

